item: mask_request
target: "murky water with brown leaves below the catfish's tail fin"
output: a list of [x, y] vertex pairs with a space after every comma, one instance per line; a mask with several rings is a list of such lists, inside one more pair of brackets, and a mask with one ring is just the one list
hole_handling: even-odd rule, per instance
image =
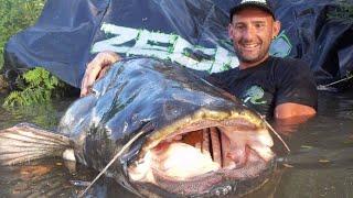
[[[77, 197], [97, 173], [82, 165], [68, 166], [62, 160], [45, 160], [0, 167], [0, 197]], [[101, 178], [85, 197], [113, 195], [129, 197], [113, 179]]]

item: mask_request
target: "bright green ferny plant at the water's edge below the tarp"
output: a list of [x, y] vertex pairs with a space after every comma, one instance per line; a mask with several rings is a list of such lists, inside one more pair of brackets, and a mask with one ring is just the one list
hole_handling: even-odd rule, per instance
[[41, 67], [29, 70], [19, 78], [24, 81], [24, 85], [20, 87], [21, 90], [12, 91], [6, 98], [3, 107], [45, 103], [55, 97], [55, 90], [65, 87], [64, 82]]

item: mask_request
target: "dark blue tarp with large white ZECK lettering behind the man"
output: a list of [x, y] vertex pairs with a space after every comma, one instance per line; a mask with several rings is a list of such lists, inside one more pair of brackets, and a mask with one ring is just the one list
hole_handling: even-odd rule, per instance
[[[47, 0], [34, 26], [6, 46], [4, 72], [42, 66], [81, 86], [97, 52], [157, 56], [211, 73], [237, 66], [227, 35], [239, 0]], [[353, 2], [272, 0], [282, 32], [271, 54], [302, 58], [319, 84], [353, 69]]]

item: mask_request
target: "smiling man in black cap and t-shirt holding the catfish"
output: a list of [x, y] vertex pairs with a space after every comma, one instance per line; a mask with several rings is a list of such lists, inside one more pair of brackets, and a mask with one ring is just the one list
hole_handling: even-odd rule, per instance
[[[228, 34], [239, 67], [213, 74], [207, 80], [259, 111], [276, 119], [315, 114], [317, 89], [309, 66], [300, 61], [269, 56], [271, 41], [280, 31], [265, 0], [243, 0], [231, 9]], [[106, 66], [119, 61], [113, 52], [99, 53], [87, 66], [82, 96], [101, 76]]]

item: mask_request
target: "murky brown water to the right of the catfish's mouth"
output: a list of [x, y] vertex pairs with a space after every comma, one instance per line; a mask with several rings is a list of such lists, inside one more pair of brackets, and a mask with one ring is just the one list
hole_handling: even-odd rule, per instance
[[292, 152], [275, 197], [353, 196], [353, 91], [321, 92], [319, 113], [287, 139]]

